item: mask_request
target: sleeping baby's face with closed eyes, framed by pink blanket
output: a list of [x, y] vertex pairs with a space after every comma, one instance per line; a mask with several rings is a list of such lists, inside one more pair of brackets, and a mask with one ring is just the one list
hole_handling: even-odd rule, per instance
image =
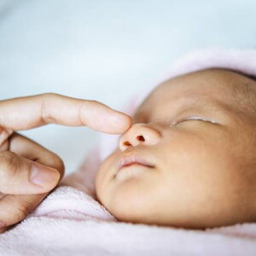
[[[98, 200], [116, 218], [207, 228], [256, 218], [252, 79], [226, 70], [189, 73], [156, 87], [96, 176]], [[122, 158], [148, 166], [119, 170]]]

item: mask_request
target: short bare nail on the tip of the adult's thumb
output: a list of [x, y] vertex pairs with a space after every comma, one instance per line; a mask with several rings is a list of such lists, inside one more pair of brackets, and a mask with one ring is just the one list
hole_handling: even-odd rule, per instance
[[40, 186], [49, 186], [55, 183], [56, 180], [60, 178], [60, 172], [53, 168], [48, 168], [44, 166], [39, 166], [37, 164], [32, 164], [30, 172], [30, 180], [32, 183]]

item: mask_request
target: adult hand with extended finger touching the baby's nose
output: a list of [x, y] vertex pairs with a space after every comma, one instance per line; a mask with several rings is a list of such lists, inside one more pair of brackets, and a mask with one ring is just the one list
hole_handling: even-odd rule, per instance
[[20, 222], [54, 189], [62, 160], [16, 131], [47, 124], [122, 133], [131, 117], [101, 102], [47, 93], [0, 101], [0, 232]]

